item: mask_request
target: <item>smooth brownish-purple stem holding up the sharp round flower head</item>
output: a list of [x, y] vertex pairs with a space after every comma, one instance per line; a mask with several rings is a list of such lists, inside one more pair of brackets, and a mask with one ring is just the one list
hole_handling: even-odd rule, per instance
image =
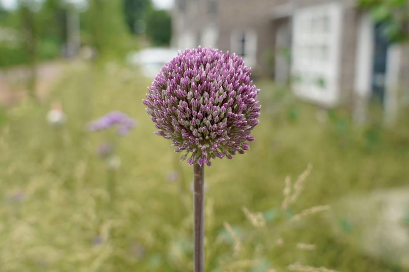
[[195, 272], [204, 271], [204, 245], [203, 236], [205, 231], [204, 226], [204, 167], [195, 163], [193, 165], [193, 183], [194, 183], [194, 193], [193, 193], [193, 215], [194, 215], [194, 266]]

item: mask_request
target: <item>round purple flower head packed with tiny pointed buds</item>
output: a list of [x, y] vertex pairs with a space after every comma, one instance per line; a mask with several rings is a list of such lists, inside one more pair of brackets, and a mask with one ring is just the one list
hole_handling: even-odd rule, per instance
[[242, 58], [217, 49], [186, 49], [162, 68], [146, 100], [146, 111], [160, 136], [189, 165], [211, 165], [212, 158], [233, 158], [249, 149], [258, 124], [259, 89]]

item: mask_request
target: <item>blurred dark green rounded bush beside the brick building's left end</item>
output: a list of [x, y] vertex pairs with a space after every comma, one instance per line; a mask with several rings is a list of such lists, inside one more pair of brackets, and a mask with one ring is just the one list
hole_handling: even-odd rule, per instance
[[147, 19], [146, 34], [153, 45], [169, 45], [171, 42], [171, 15], [166, 10], [152, 10]]

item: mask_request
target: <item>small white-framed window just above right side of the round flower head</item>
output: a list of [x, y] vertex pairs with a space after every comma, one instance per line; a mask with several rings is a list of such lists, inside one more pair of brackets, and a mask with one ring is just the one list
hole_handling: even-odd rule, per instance
[[245, 36], [245, 56], [243, 61], [247, 67], [254, 66], [256, 64], [256, 54], [257, 54], [257, 33], [252, 29], [236, 29], [231, 32], [230, 36], [230, 48], [231, 54], [236, 53], [240, 56], [241, 51], [240, 38]]

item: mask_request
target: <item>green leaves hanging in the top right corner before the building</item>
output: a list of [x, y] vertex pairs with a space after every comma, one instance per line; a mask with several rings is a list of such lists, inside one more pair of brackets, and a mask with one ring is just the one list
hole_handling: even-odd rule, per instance
[[368, 9], [375, 22], [382, 23], [390, 42], [409, 39], [409, 4], [407, 0], [360, 0], [359, 7]]

